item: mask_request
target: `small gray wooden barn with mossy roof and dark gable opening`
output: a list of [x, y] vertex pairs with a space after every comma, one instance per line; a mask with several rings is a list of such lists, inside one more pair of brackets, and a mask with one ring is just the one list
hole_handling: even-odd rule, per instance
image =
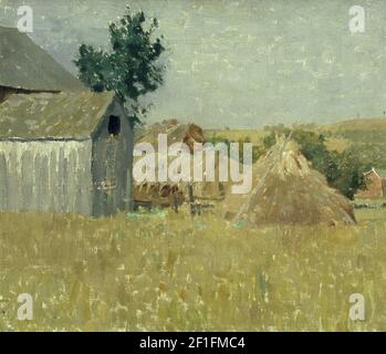
[[0, 104], [0, 210], [127, 210], [132, 165], [132, 124], [112, 93], [21, 94]]

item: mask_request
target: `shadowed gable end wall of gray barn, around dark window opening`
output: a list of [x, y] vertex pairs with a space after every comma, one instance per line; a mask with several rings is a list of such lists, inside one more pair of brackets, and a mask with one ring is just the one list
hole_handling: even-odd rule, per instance
[[[111, 115], [121, 121], [121, 133], [117, 136], [108, 133]], [[94, 216], [109, 216], [132, 209], [133, 149], [133, 128], [122, 106], [114, 103], [93, 135]]]

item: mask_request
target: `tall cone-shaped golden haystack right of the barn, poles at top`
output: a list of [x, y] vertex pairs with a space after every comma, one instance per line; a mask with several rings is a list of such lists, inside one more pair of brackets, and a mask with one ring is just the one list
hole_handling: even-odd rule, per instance
[[353, 206], [312, 169], [293, 142], [280, 140], [255, 165], [253, 191], [236, 218], [257, 225], [355, 223]]

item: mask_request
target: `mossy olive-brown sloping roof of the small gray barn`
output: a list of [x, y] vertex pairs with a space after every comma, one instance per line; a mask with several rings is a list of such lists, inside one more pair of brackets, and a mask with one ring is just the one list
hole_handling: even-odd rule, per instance
[[12, 95], [0, 104], [0, 139], [87, 138], [113, 101], [109, 92]]

